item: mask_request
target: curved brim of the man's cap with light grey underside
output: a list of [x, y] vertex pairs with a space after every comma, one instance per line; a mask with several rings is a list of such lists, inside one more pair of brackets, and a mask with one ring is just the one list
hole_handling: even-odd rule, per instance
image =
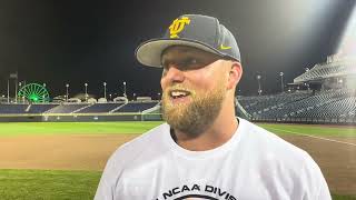
[[171, 46], [189, 46], [189, 47], [201, 49], [207, 52], [212, 52], [219, 56], [224, 56], [218, 51], [216, 51], [214, 48], [195, 40], [152, 39], [141, 43], [136, 49], [136, 58], [140, 63], [145, 66], [161, 68], [160, 59], [161, 59], [162, 51]]

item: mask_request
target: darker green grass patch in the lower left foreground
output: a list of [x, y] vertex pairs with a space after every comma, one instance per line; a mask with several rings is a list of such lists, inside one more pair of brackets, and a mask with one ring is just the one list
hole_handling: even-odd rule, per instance
[[101, 172], [0, 170], [1, 200], [92, 200]]

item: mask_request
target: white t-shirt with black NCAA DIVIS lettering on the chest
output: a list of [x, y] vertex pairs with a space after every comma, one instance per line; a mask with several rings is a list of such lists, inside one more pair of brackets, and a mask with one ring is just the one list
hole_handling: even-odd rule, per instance
[[330, 200], [310, 156], [244, 119], [208, 151], [179, 147], [164, 123], [108, 160], [95, 200]]

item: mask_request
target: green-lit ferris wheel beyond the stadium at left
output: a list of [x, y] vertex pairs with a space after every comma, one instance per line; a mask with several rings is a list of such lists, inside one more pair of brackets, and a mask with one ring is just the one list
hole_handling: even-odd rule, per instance
[[27, 99], [29, 102], [49, 102], [49, 93], [44, 86], [39, 83], [28, 83], [23, 86], [18, 97]]

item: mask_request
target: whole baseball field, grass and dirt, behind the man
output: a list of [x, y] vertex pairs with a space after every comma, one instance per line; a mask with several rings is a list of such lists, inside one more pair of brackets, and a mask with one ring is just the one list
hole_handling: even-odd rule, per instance
[[[160, 123], [0, 123], [0, 199], [92, 199], [112, 151]], [[356, 127], [258, 126], [309, 152], [333, 199], [356, 200]]]

